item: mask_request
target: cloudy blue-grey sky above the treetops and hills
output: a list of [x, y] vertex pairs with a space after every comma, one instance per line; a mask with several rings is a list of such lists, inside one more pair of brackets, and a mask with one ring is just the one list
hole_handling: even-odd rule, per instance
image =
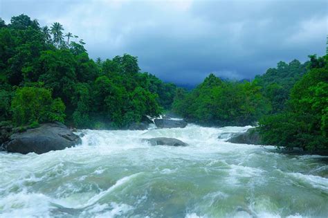
[[198, 84], [209, 73], [251, 80], [277, 62], [325, 55], [325, 0], [0, 0], [0, 17], [60, 22], [91, 58], [138, 57], [141, 71]]

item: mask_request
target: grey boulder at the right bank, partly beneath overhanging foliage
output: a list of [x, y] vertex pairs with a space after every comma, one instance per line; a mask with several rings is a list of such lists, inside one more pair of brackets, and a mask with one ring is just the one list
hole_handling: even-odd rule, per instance
[[227, 140], [229, 143], [262, 145], [261, 136], [255, 128], [248, 129], [242, 134], [235, 134]]

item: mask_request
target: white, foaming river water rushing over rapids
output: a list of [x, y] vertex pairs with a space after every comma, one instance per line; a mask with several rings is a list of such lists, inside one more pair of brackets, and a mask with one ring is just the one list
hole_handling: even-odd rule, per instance
[[248, 128], [83, 130], [61, 151], [0, 152], [0, 217], [327, 217], [328, 158], [218, 139]]

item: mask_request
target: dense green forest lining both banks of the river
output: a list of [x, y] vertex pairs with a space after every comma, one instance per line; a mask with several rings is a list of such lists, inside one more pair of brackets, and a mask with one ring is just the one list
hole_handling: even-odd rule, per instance
[[252, 82], [210, 74], [192, 91], [141, 73], [137, 57], [89, 58], [84, 42], [26, 15], [0, 19], [0, 121], [120, 129], [172, 110], [201, 125], [254, 125], [264, 144], [328, 149], [327, 55], [279, 62]]

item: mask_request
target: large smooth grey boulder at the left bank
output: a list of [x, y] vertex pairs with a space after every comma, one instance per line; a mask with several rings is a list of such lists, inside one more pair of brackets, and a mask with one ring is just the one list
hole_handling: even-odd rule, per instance
[[8, 152], [43, 154], [80, 144], [81, 138], [60, 122], [51, 122], [35, 129], [15, 133], [3, 144]]

